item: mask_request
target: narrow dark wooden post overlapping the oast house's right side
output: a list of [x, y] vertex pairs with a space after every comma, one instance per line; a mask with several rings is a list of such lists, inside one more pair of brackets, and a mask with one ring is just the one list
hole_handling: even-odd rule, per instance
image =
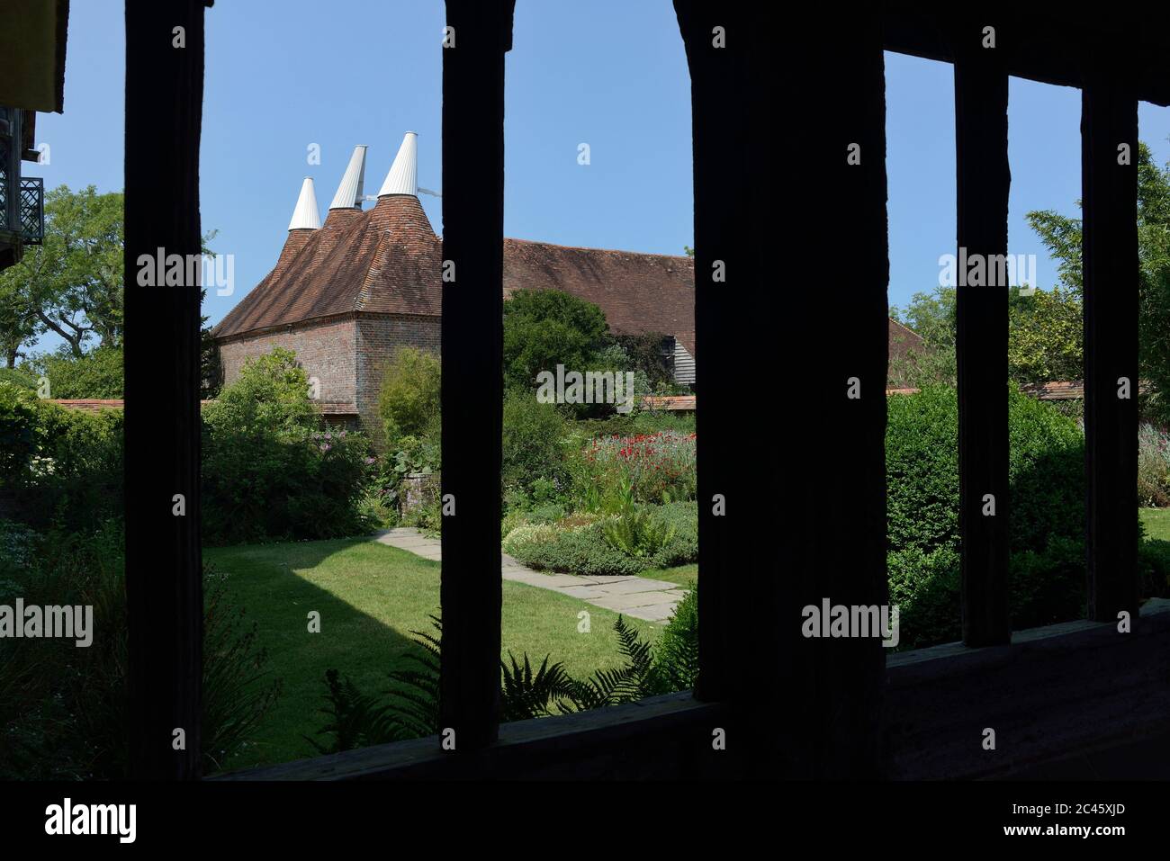
[[[514, 0], [447, 0], [442, 63], [442, 673], [455, 750], [500, 723], [504, 53]], [[449, 743], [449, 742], [448, 742]]]

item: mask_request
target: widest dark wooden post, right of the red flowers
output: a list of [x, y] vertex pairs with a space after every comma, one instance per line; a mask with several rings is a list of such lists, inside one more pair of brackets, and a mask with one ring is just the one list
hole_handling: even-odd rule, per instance
[[[880, 641], [805, 638], [803, 609], [886, 595], [881, 30], [824, 13], [810, 32], [832, 32], [840, 50], [810, 37], [778, 54], [778, 11], [675, 8], [695, 149], [697, 695], [735, 705], [728, 750], [744, 774], [874, 776]], [[827, 228], [842, 211], [854, 243], [844, 270]], [[760, 445], [736, 416], [776, 368], [810, 383]]]

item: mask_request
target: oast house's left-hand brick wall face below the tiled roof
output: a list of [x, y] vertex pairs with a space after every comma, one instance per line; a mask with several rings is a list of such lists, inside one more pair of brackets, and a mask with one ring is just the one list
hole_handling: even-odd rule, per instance
[[248, 358], [270, 353], [273, 347], [282, 346], [292, 350], [305, 373], [319, 380], [319, 400], [353, 404], [358, 364], [356, 331], [357, 325], [350, 317], [220, 343], [223, 384], [234, 383], [240, 377], [240, 370]]

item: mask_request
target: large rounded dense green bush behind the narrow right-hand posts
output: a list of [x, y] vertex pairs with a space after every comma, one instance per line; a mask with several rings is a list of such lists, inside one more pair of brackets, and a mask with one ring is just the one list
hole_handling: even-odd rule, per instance
[[[927, 387], [888, 402], [888, 566], [906, 647], [962, 635], [958, 405]], [[1027, 627], [1078, 617], [1085, 600], [1083, 436], [1076, 421], [1017, 390], [1009, 395], [1011, 612]]]

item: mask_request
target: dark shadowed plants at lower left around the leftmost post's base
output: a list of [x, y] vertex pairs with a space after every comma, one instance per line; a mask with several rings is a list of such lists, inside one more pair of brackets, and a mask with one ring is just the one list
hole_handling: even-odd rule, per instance
[[[89, 533], [53, 531], [23, 567], [28, 604], [91, 605], [94, 640], [0, 639], [0, 779], [124, 779], [129, 748], [125, 545], [111, 519]], [[226, 583], [204, 572], [202, 767], [219, 770], [268, 712], [256, 626], [243, 624]]]

